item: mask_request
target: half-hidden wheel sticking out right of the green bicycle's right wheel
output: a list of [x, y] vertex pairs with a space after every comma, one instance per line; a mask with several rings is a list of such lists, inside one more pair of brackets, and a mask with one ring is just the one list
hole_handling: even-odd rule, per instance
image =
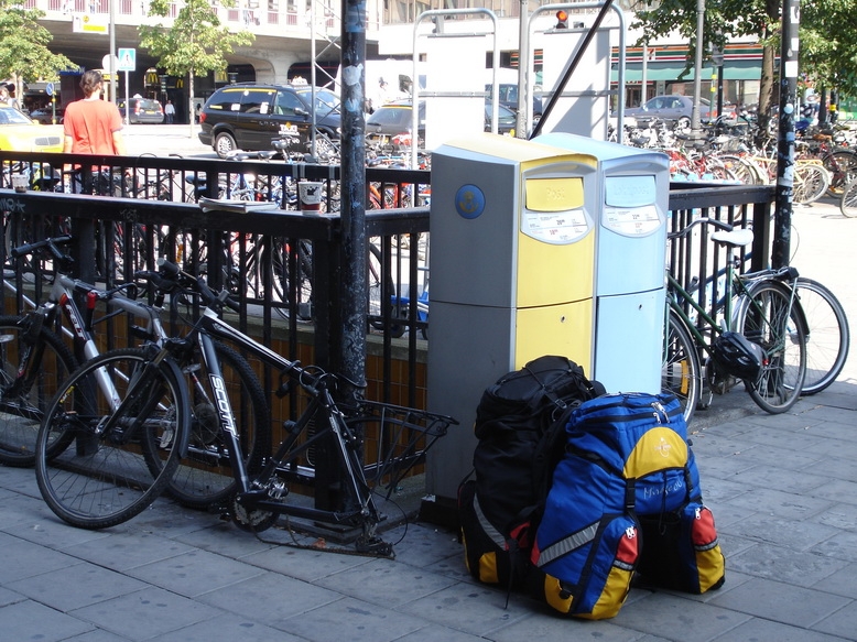
[[803, 394], [833, 383], [848, 358], [848, 318], [833, 292], [812, 279], [798, 279], [798, 297], [806, 317], [806, 378]]

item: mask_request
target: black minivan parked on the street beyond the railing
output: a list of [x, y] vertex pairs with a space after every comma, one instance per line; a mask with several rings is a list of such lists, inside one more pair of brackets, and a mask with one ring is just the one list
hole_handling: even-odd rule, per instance
[[315, 112], [316, 155], [334, 151], [340, 138], [339, 99], [328, 89], [310, 85], [239, 83], [221, 87], [206, 100], [199, 115], [199, 140], [217, 155], [238, 150], [274, 149], [271, 141], [297, 135], [310, 149]]

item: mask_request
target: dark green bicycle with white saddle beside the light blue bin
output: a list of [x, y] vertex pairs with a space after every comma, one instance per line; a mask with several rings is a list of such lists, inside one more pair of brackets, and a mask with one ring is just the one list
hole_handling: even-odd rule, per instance
[[[710, 238], [727, 249], [725, 293], [715, 318], [668, 271], [666, 316], [661, 387], [682, 402], [690, 422], [697, 405], [738, 380], [768, 413], [788, 411], [798, 401], [806, 376], [806, 318], [795, 293], [794, 268], [738, 274], [733, 251], [752, 242], [751, 230], [698, 218], [670, 239], [697, 225], [717, 228]], [[710, 336], [710, 339], [706, 337]], [[701, 355], [705, 353], [705, 376]], [[703, 382], [709, 399], [703, 400]]]

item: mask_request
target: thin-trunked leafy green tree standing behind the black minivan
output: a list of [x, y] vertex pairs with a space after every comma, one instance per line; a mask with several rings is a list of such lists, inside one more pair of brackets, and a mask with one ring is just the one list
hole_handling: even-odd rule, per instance
[[[220, 0], [218, 4], [224, 8], [235, 7], [235, 0]], [[170, 0], [152, 0], [149, 3], [149, 15], [166, 18], [171, 6]], [[160, 23], [140, 25], [139, 33], [140, 46], [159, 58], [159, 67], [163, 67], [171, 76], [187, 74], [191, 135], [194, 122], [194, 76], [226, 69], [226, 56], [236, 46], [249, 45], [256, 40], [249, 31], [232, 33], [221, 26], [209, 0], [185, 0], [172, 26]]]

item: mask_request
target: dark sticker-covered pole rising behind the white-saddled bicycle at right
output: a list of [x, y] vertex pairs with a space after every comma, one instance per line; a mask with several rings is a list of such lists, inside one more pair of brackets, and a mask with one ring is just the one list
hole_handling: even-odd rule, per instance
[[777, 141], [777, 196], [771, 266], [789, 264], [794, 186], [794, 106], [798, 100], [800, 0], [783, 0], [780, 53], [780, 135]]

